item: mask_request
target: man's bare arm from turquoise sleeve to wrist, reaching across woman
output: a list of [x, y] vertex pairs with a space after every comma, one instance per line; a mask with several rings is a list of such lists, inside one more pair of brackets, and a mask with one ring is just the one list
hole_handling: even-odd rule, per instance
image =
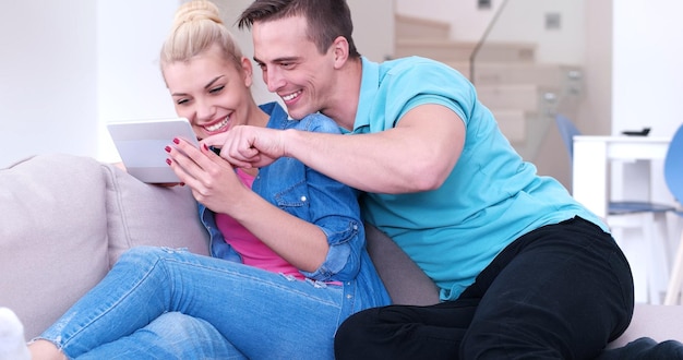
[[359, 190], [433, 190], [448, 177], [465, 143], [465, 124], [451, 109], [422, 105], [396, 128], [372, 134], [284, 133], [284, 155]]

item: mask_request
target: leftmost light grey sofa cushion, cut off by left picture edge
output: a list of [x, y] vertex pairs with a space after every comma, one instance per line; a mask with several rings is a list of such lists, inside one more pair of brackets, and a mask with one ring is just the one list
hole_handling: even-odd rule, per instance
[[99, 163], [39, 155], [0, 170], [0, 307], [28, 337], [55, 322], [108, 271]]

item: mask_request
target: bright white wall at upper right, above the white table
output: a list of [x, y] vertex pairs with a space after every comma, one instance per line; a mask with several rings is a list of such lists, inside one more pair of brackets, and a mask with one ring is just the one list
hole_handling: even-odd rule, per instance
[[683, 2], [613, 0], [612, 134], [683, 122]]

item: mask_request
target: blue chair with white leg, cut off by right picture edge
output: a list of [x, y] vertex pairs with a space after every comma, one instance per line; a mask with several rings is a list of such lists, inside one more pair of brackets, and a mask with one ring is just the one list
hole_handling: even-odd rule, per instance
[[[664, 180], [673, 197], [679, 204], [683, 204], [683, 124], [673, 135], [669, 149], [667, 151], [667, 158], [664, 159]], [[683, 211], [678, 209], [675, 213], [683, 217]], [[683, 281], [682, 244], [683, 232], [681, 233], [681, 241], [679, 242], [679, 249], [667, 289], [667, 297], [664, 298], [664, 304], [667, 305], [680, 303], [681, 283]]]

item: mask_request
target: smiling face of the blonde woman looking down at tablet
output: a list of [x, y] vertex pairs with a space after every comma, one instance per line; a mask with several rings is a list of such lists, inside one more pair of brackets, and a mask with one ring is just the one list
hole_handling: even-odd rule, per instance
[[165, 64], [163, 74], [176, 112], [190, 120], [199, 139], [248, 123], [253, 103], [249, 59], [238, 65], [213, 46], [189, 61]]

